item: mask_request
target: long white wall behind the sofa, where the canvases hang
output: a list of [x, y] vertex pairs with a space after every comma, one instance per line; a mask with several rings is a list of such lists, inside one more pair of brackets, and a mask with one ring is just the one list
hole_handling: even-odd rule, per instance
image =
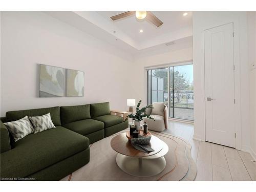
[[[42, 12], [2, 12], [1, 25], [1, 116], [103, 101], [126, 110], [130, 55]], [[37, 63], [84, 71], [85, 96], [39, 98]]]

